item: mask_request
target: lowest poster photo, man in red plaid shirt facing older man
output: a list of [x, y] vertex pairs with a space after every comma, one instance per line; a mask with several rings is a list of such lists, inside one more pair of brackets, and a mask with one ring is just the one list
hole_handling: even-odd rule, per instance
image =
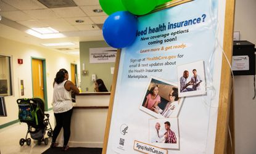
[[179, 148], [178, 118], [149, 120], [149, 142], [161, 148]]

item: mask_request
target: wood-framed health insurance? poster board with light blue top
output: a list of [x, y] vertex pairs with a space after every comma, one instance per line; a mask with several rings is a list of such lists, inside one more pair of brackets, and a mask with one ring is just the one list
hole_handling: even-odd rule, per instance
[[233, 24], [234, 0], [174, 0], [138, 17], [117, 52], [102, 153], [226, 153]]

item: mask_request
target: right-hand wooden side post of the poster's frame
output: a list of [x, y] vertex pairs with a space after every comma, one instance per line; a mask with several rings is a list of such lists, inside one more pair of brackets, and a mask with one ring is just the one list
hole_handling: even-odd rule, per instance
[[[215, 139], [215, 153], [234, 153], [234, 101], [232, 93], [232, 78], [231, 69], [229, 63], [232, 61], [232, 49], [233, 49], [233, 31], [234, 31], [234, 0], [226, 1], [226, 12], [225, 12], [225, 29], [224, 29], [224, 43], [223, 51], [226, 54], [226, 59], [223, 57], [222, 68], [221, 68], [221, 86], [220, 86], [220, 100], [218, 107], [218, 120], [217, 120], [217, 132]], [[232, 104], [232, 107], [231, 107]], [[230, 122], [229, 122], [230, 118]], [[232, 147], [228, 143], [228, 127], [233, 126], [232, 130]], [[229, 140], [230, 141], [230, 140]], [[229, 142], [230, 143], [230, 142]], [[228, 146], [228, 148], [226, 148]]]

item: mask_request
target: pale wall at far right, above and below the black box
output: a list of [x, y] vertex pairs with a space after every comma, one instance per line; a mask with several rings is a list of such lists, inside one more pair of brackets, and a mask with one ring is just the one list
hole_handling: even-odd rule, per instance
[[[236, 0], [234, 31], [240, 40], [256, 44], [256, 1]], [[236, 76], [234, 83], [235, 146], [237, 154], [256, 153], [254, 76]]]

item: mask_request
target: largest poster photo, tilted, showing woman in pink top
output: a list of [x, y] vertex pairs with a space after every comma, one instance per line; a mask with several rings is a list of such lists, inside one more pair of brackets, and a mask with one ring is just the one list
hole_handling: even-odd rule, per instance
[[155, 118], [170, 118], [178, 116], [182, 102], [178, 86], [152, 77], [139, 108]]

